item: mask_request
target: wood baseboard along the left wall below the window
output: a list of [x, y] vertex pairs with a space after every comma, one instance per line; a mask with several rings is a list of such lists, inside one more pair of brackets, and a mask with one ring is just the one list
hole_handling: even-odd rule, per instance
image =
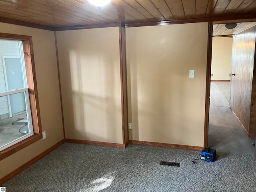
[[22, 172], [24, 169], [28, 168], [30, 165], [32, 165], [35, 162], [37, 162], [38, 160], [42, 159], [44, 156], [46, 156], [47, 154], [49, 154], [50, 152], [52, 152], [53, 150], [55, 150], [56, 148], [61, 146], [63, 143], [64, 143], [64, 140], [61, 140], [60, 142], [56, 143], [54, 146], [51, 146], [50, 148], [48, 148], [47, 150], [45, 150], [44, 152], [42, 152], [38, 156], [34, 157], [33, 159], [24, 163], [22, 166], [18, 167], [16, 170], [10, 172], [8, 175], [1, 178], [0, 179], [0, 186], [2, 184], [4, 184], [6, 181], [8, 181], [9, 179], [11, 179], [14, 176], [16, 176], [17, 174], [19, 174], [20, 172]]

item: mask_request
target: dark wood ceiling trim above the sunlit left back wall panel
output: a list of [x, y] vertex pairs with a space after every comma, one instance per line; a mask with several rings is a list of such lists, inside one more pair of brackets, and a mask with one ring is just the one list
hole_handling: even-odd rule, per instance
[[105, 27], [119, 27], [121, 23], [107, 23], [107, 24], [96, 24], [96, 25], [84, 25], [84, 26], [69, 26], [69, 27], [56, 27], [55, 31], [68, 31], [78, 29], [93, 29], [93, 28], [105, 28]]

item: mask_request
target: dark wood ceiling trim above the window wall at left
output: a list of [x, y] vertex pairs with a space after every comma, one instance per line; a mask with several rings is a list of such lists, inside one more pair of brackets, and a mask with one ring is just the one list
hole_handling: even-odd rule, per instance
[[0, 17], [0, 22], [2, 23], [8, 23], [8, 24], [14, 24], [14, 25], [20, 25], [20, 26], [26, 26], [26, 27], [32, 27], [32, 28], [38, 28], [38, 29], [44, 29], [49, 31], [54, 31], [54, 27], [45, 26], [45, 25], [39, 25], [35, 23], [29, 23], [24, 21], [18, 21], [13, 19], [7, 19]]

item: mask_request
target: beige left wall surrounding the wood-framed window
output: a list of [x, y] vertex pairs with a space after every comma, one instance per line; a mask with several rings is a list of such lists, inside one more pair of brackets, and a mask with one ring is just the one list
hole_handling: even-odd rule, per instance
[[39, 140], [0, 161], [0, 178], [63, 139], [54, 32], [0, 23], [0, 32], [32, 36], [42, 130]]

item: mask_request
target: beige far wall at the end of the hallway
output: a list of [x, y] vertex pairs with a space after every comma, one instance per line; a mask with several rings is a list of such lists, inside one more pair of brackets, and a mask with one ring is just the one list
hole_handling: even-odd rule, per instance
[[211, 80], [230, 80], [233, 39], [228, 37], [212, 38]]

